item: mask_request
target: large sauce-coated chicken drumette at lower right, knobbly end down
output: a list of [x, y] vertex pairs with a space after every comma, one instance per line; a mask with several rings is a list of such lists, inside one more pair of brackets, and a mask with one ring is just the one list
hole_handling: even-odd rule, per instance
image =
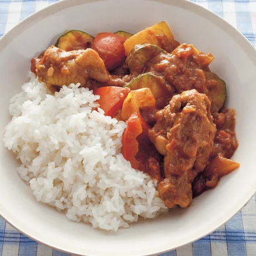
[[204, 170], [214, 149], [216, 126], [205, 94], [196, 90], [175, 95], [156, 113], [150, 140], [164, 157], [164, 177], [159, 196], [168, 208], [187, 207], [192, 201], [191, 183]]

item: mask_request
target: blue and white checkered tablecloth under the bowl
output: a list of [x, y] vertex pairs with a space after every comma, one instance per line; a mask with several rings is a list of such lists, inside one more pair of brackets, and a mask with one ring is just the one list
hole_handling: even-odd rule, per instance
[[[0, 37], [23, 18], [58, 0], [0, 0]], [[72, 1], [72, 0], [70, 0]], [[179, 0], [176, 0], [179, 1]], [[256, 0], [193, 0], [226, 19], [254, 45]], [[0, 256], [65, 256], [25, 237], [0, 218]], [[256, 196], [214, 233], [161, 256], [256, 256]]]

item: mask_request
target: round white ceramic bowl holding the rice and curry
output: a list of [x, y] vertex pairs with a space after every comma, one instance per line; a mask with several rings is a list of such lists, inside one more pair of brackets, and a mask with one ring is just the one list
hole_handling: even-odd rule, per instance
[[171, 210], [155, 220], [139, 221], [117, 233], [69, 221], [33, 197], [16, 173], [17, 161], [1, 143], [0, 214], [38, 242], [81, 255], [149, 255], [175, 249], [213, 232], [252, 197], [256, 189], [255, 95], [256, 52], [236, 29], [206, 9], [186, 0], [61, 1], [33, 14], [0, 40], [1, 137], [10, 120], [9, 99], [28, 80], [30, 60], [67, 29], [92, 35], [117, 30], [136, 33], [166, 21], [175, 38], [210, 52], [211, 69], [227, 82], [227, 106], [237, 110], [241, 166], [221, 179], [214, 190], [193, 200], [187, 209]]

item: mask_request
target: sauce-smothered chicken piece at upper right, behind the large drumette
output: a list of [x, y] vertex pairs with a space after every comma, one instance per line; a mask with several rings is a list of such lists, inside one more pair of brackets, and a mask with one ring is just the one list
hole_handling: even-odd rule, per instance
[[171, 54], [163, 52], [155, 56], [147, 63], [145, 72], [160, 73], [177, 93], [195, 89], [209, 97], [204, 70], [209, 70], [213, 59], [210, 53], [199, 52], [193, 45], [183, 43]]

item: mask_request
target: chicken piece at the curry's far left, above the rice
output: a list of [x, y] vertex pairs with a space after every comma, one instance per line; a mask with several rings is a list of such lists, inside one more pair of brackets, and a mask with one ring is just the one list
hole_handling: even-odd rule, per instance
[[70, 83], [84, 86], [90, 78], [100, 82], [110, 80], [104, 61], [90, 48], [66, 52], [51, 46], [36, 64], [36, 74], [38, 80], [47, 86], [62, 87]]

